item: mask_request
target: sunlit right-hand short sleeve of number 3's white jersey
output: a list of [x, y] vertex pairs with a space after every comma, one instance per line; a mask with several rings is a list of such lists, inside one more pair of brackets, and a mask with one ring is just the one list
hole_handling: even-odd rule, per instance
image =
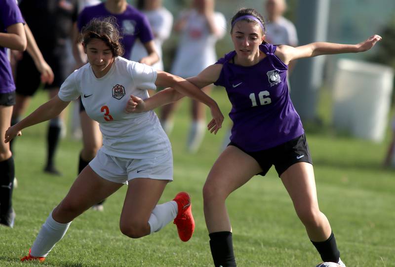
[[130, 73], [137, 89], [157, 89], [155, 81], [157, 80], [158, 73], [151, 66], [134, 61], [129, 61], [127, 65], [127, 70]]

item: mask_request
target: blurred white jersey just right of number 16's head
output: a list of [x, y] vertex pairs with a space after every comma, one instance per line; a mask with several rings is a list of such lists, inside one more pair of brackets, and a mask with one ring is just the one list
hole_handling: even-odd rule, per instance
[[266, 40], [271, 44], [298, 45], [295, 25], [284, 17], [265, 24]]

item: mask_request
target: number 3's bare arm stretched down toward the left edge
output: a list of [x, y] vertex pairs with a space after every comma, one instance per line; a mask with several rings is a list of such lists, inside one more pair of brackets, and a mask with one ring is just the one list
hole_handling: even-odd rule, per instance
[[42, 104], [32, 114], [9, 127], [8, 130], [5, 131], [4, 143], [8, 143], [14, 137], [22, 135], [22, 129], [56, 117], [67, 107], [67, 105], [69, 105], [69, 103], [70, 102], [60, 100], [56, 95], [48, 102]]

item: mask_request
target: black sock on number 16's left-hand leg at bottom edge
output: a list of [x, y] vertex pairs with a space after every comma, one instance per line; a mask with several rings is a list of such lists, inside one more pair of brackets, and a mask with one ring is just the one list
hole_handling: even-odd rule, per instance
[[210, 249], [215, 267], [236, 267], [233, 253], [232, 232], [213, 232], [210, 236]]

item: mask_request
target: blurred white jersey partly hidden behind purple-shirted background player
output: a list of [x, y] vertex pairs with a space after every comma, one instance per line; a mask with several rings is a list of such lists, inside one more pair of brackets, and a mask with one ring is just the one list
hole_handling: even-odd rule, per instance
[[[163, 60], [162, 60], [162, 44], [163, 41], [169, 38], [171, 28], [173, 26], [173, 15], [164, 7], [158, 8], [151, 11], [142, 11], [150, 22], [152, 32], [154, 34], [154, 44], [158, 52], [159, 61], [152, 65], [153, 68], [163, 71]], [[141, 58], [148, 55], [143, 43], [137, 39], [132, 52], [130, 60], [140, 61]]]

